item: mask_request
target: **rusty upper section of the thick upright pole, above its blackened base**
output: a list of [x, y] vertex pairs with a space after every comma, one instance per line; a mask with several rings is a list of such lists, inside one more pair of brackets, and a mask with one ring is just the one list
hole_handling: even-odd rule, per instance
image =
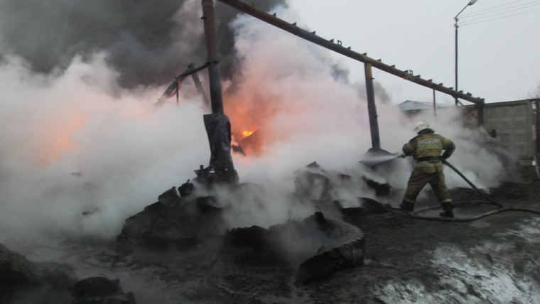
[[202, 0], [202, 20], [205, 25], [205, 42], [208, 55], [208, 76], [210, 78], [210, 99], [212, 114], [223, 114], [220, 65], [217, 60], [217, 43], [214, 18], [214, 1]]

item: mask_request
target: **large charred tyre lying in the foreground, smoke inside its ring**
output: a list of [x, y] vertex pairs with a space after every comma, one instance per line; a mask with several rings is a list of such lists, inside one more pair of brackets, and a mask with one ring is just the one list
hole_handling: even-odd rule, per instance
[[264, 229], [234, 228], [225, 235], [229, 246], [247, 247], [259, 254], [276, 254], [298, 267], [297, 283], [307, 283], [330, 273], [362, 265], [364, 234], [357, 227], [322, 212]]

